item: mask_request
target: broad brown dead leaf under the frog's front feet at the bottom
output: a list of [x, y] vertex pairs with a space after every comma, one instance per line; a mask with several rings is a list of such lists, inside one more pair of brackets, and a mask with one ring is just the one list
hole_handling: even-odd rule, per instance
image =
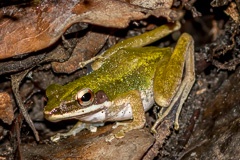
[[111, 131], [112, 125], [108, 125], [99, 127], [95, 133], [82, 131], [54, 145], [33, 147], [34, 144], [26, 144], [22, 150], [23, 159], [139, 160], [154, 142], [154, 137], [146, 129], [132, 130], [124, 138], [106, 142]]

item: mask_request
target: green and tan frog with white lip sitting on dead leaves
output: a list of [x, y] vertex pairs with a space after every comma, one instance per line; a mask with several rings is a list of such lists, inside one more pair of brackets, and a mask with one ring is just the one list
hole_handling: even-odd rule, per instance
[[145, 126], [145, 112], [154, 104], [162, 109], [151, 131], [156, 133], [157, 126], [176, 105], [177, 130], [182, 106], [195, 82], [194, 40], [183, 33], [175, 49], [149, 44], [180, 27], [179, 22], [165, 24], [123, 40], [91, 59], [91, 73], [63, 86], [48, 86], [45, 118], [51, 122], [78, 120], [69, 132], [58, 133], [51, 140], [58, 141], [84, 129], [96, 132], [105, 122], [116, 122], [115, 128], [122, 126], [108, 141], [123, 138], [127, 132]]

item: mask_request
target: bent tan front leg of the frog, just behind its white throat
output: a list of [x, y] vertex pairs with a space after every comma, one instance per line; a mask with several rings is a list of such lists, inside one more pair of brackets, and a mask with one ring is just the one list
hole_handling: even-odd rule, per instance
[[138, 90], [129, 91], [114, 101], [114, 105], [116, 106], [121, 106], [127, 103], [131, 105], [133, 121], [131, 123], [120, 123], [120, 125], [124, 126], [118, 133], [115, 134], [116, 138], [124, 137], [124, 133], [133, 129], [143, 128], [146, 122], [145, 112], [140, 92]]

